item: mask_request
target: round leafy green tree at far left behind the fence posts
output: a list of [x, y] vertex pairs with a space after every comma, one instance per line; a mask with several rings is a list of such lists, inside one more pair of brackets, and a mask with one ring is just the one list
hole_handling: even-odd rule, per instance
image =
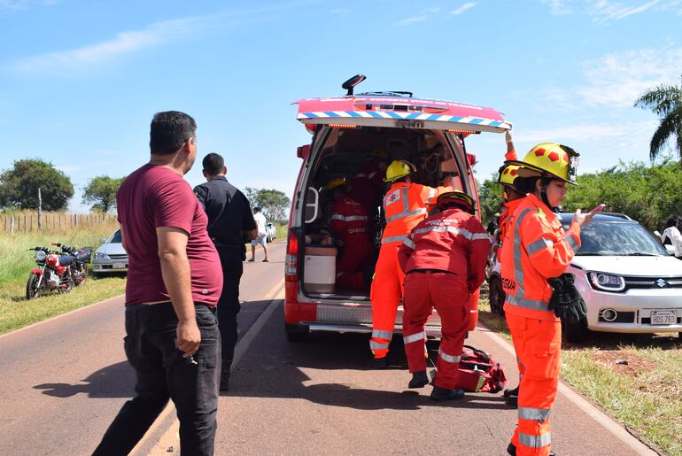
[[0, 206], [37, 209], [38, 189], [44, 211], [62, 211], [74, 196], [74, 185], [66, 174], [40, 158], [16, 160], [0, 174]]

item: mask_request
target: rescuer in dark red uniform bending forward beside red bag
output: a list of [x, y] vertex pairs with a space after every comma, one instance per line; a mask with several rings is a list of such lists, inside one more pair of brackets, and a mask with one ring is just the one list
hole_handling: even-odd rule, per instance
[[435, 307], [442, 340], [438, 375], [430, 398], [457, 399], [455, 389], [461, 349], [469, 329], [469, 296], [483, 283], [490, 237], [474, 216], [474, 200], [460, 190], [438, 197], [440, 213], [422, 220], [398, 252], [405, 277], [403, 340], [412, 373], [409, 388], [429, 382], [426, 375], [424, 325]]

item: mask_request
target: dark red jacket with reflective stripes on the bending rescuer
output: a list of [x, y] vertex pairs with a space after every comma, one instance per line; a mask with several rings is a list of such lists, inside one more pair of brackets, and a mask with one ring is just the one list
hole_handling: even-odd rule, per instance
[[447, 209], [422, 220], [398, 251], [400, 268], [450, 271], [469, 292], [483, 283], [490, 236], [481, 222], [461, 209]]

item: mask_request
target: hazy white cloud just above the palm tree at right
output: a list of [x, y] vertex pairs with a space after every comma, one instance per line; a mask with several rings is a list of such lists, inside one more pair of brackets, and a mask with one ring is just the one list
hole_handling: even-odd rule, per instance
[[677, 83], [682, 49], [632, 50], [585, 62], [587, 85], [577, 88], [585, 104], [631, 107], [646, 90]]

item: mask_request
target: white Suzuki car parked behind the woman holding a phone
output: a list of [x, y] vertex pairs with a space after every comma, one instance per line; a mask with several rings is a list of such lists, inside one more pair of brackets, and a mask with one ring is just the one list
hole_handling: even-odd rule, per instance
[[[565, 228], [572, 213], [562, 213]], [[570, 342], [587, 329], [614, 333], [682, 332], [682, 261], [635, 220], [622, 214], [596, 215], [583, 227], [581, 247], [568, 272], [587, 305], [586, 324], [565, 324]], [[492, 310], [504, 303], [500, 265], [490, 278]]]

